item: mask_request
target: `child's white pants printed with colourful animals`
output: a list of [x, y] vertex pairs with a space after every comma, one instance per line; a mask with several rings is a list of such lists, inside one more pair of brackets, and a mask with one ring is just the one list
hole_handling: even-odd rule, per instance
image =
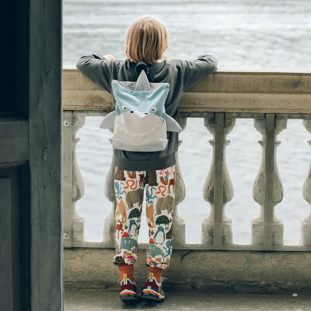
[[146, 190], [149, 246], [146, 263], [167, 268], [172, 254], [175, 165], [158, 171], [123, 171], [116, 168], [116, 251], [114, 264], [132, 264], [138, 255], [138, 232]]

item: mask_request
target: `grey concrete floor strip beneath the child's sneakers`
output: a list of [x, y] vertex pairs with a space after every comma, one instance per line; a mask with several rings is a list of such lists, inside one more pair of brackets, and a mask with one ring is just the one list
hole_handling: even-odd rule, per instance
[[65, 311], [311, 311], [311, 296], [291, 294], [208, 294], [166, 291], [161, 303], [122, 303], [118, 292], [65, 290]]

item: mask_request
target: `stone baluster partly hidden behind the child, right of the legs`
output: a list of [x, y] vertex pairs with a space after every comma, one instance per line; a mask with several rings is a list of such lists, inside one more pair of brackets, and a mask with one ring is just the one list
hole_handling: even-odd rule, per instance
[[[176, 120], [182, 130], [187, 126], [187, 118], [179, 116]], [[182, 140], [178, 140], [178, 148], [182, 144]], [[186, 223], [185, 220], [178, 215], [178, 204], [184, 201], [186, 195], [185, 182], [181, 174], [178, 151], [176, 152], [176, 165], [175, 165], [175, 200], [174, 200], [174, 222], [173, 222], [173, 247], [182, 248], [186, 243]]]

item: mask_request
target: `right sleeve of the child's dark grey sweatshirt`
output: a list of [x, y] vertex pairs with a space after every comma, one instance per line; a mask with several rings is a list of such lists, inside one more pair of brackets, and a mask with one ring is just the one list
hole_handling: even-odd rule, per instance
[[184, 90], [205, 79], [217, 70], [217, 59], [211, 55], [200, 55], [198, 59], [181, 60], [184, 72]]

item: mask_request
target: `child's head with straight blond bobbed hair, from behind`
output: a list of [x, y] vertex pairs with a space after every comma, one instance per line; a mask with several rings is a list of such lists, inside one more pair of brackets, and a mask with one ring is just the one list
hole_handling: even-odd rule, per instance
[[144, 61], [153, 65], [165, 59], [169, 33], [164, 24], [155, 17], [139, 17], [128, 29], [125, 38], [125, 56], [134, 63]]

